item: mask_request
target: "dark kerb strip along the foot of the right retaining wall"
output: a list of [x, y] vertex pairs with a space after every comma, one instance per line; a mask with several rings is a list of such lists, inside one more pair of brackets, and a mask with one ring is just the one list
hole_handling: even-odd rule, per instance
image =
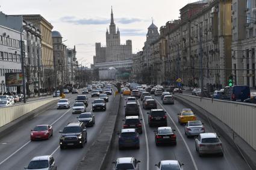
[[218, 118], [211, 115], [209, 112], [205, 111], [201, 107], [189, 102], [189, 100], [182, 99], [182, 97], [176, 96], [175, 99], [179, 102], [189, 106], [196, 114], [199, 114], [205, 121], [210, 121], [213, 129], [216, 133], [219, 133], [226, 141], [234, 148], [234, 150], [239, 153], [239, 155], [251, 166], [251, 169], [256, 169], [256, 151], [250, 145], [248, 145], [239, 135], [233, 132], [233, 130], [222, 123]]

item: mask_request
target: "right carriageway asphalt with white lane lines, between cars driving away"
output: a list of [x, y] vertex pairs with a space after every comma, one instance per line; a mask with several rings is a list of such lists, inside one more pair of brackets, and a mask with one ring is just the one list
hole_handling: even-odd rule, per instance
[[[199, 157], [195, 150], [195, 139], [187, 138], [184, 135], [184, 126], [181, 126], [178, 123], [177, 114], [181, 109], [186, 108], [182, 103], [175, 101], [174, 105], [162, 105], [161, 97], [153, 96], [157, 100], [158, 109], [165, 109], [167, 111], [167, 123], [168, 126], [171, 126], [172, 129], [176, 129], [177, 136], [177, 145], [164, 145], [157, 147], [154, 141], [154, 130], [156, 127], [148, 126], [148, 115], [145, 110], [140, 106], [141, 116], [143, 118], [143, 133], [140, 135], [140, 149], [118, 149], [118, 135], [114, 139], [113, 144], [111, 145], [111, 152], [108, 160], [107, 169], [113, 168], [111, 162], [116, 160], [118, 157], [136, 157], [140, 160], [140, 169], [142, 170], [152, 170], [155, 169], [155, 164], [160, 160], [180, 160], [184, 163], [184, 170], [193, 170], [193, 169], [230, 169], [230, 170], [244, 170], [249, 169], [246, 162], [242, 157], [228, 144], [225, 139], [220, 138], [222, 141], [224, 156], [205, 156]], [[122, 97], [121, 106], [125, 105], [125, 97]], [[138, 100], [140, 105], [140, 99]], [[195, 113], [196, 114], [196, 113]], [[117, 120], [117, 129], [122, 129], [122, 119], [124, 118], [124, 108], [120, 107], [119, 117]], [[205, 132], [213, 132], [210, 124], [207, 121], [202, 120], [197, 115], [198, 120], [201, 120], [205, 124]], [[172, 119], [172, 120], [171, 120]]]

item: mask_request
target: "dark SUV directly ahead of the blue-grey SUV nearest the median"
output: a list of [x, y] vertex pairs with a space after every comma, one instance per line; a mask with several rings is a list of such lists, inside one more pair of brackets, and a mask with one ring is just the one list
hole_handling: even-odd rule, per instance
[[138, 116], [125, 117], [123, 120], [123, 129], [135, 128], [138, 133], [142, 133], [142, 123]]

